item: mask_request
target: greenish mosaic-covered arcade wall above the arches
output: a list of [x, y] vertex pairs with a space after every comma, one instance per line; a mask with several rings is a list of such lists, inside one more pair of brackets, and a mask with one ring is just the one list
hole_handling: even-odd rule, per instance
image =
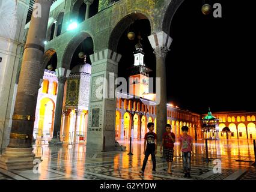
[[[163, 28], [165, 28], [165, 32], [168, 34], [169, 29], [166, 26], [170, 25], [175, 10], [177, 10], [178, 6], [183, 1], [184, 0], [120, 0], [111, 7], [99, 11], [99, 13], [85, 22], [80, 23], [77, 29], [73, 31], [63, 30], [64, 32], [61, 35], [46, 44], [45, 50], [56, 50], [58, 58], [62, 58], [58, 59], [58, 67], [61, 67], [63, 56], [70, 54], [70, 56], [67, 57], [72, 57], [73, 53], [70, 53], [70, 47], [75, 47], [76, 49], [76, 46], [73, 44], [78, 46], [84, 40], [86, 36], [85, 33], [93, 38], [94, 52], [108, 48], [115, 50], [118, 40], [121, 37], [120, 34], [123, 34], [123, 32], [129, 28], [129, 25], [137, 19], [150, 20], [152, 34], [154, 32], [163, 31]], [[70, 7], [72, 6], [70, 5]], [[60, 7], [56, 7], [58, 10], [52, 10], [50, 17], [57, 17], [62, 8], [62, 4]], [[99, 10], [100, 9], [102, 9], [102, 7], [99, 6]], [[71, 11], [64, 14], [64, 21], [65, 17], [69, 15], [72, 15]], [[168, 22], [163, 22], [163, 20], [168, 20]], [[163, 26], [162, 23], [167, 24]], [[114, 39], [113, 41], [109, 40], [111, 37]]]

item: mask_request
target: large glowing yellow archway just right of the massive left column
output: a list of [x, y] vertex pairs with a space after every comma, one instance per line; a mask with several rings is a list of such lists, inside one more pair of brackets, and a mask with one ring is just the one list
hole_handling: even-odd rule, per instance
[[55, 104], [50, 98], [43, 98], [40, 101], [39, 121], [38, 121], [38, 136], [41, 136], [43, 131], [49, 131], [50, 135], [53, 132]]

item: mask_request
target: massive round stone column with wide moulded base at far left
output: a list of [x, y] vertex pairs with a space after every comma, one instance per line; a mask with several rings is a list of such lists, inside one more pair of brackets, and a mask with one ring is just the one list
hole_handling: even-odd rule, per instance
[[35, 166], [32, 133], [44, 55], [44, 40], [52, 1], [36, 0], [35, 3], [41, 5], [41, 16], [34, 17], [32, 14], [31, 17], [14, 106], [10, 143], [0, 158], [0, 167], [7, 170], [31, 169]]

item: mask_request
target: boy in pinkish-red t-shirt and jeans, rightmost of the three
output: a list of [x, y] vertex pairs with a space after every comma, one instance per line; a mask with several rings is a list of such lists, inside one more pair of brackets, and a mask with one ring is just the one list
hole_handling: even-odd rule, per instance
[[189, 128], [187, 126], [181, 127], [182, 136], [178, 138], [180, 141], [180, 151], [182, 152], [183, 159], [183, 172], [184, 178], [191, 178], [190, 170], [191, 170], [191, 154], [193, 152], [193, 138], [187, 134]]

